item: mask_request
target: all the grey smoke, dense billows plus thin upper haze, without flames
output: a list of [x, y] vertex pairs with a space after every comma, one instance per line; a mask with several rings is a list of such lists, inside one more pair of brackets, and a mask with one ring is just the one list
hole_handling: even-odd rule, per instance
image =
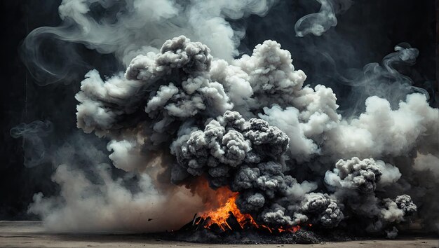
[[[407, 90], [396, 103], [372, 94], [363, 113], [346, 117], [334, 91], [307, 85], [278, 42], [236, 57], [243, 33], [226, 19], [264, 15], [272, 3], [63, 1], [62, 26], [36, 29], [25, 43], [33, 48], [41, 32], [116, 55], [125, 71], [93, 69], [81, 82], [76, 125], [108, 142], [109, 160], [127, 173], [112, 177], [109, 161], [92, 152], [83, 151], [93, 178], [73, 158], [55, 160], [60, 195], [37, 193], [29, 212], [51, 230], [175, 229], [203, 212], [202, 193], [190, 189], [203, 177], [238, 192], [241, 211], [271, 227], [348, 225], [393, 237], [413, 221], [434, 230], [437, 203], [424, 195], [438, 188], [438, 109]], [[318, 35], [351, 1], [321, 3], [299, 25], [320, 25]], [[90, 13], [96, 4], [109, 11], [100, 22]], [[411, 64], [417, 53], [397, 46], [367, 75], [410, 86], [393, 65]]]

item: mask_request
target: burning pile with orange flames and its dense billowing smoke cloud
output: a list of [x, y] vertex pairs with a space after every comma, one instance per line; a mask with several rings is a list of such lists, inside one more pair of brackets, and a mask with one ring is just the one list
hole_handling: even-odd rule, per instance
[[[135, 55], [114, 49], [127, 69], [86, 74], [77, 127], [108, 139], [114, 166], [140, 179], [133, 189], [104, 167], [90, 179], [60, 166], [53, 177], [60, 197], [38, 194], [29, 208], [49, 228], [175, 230], [197, 212], [184, 230], [394, 237], [397, 227], [431, 230], [439, 222], [437, 202], [425, 197], [438, 190], [439, 174], [422, 177], [437, 172], [439, 111], [416, 89], [397, 107], [369, 97], [364, 113], [346, 118], [332, 89], [306, 85], [276, 41], [227, 60], [186, 36]], [[406, 55], [401, 61], [417, 56], [414, 48], [396, 51]], [[161, 224], [142, 221], [151, 217]]]

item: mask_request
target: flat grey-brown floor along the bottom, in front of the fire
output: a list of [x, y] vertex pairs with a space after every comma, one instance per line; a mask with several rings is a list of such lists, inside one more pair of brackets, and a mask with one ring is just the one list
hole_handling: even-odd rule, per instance
[[398, 238], [325, 244], [196, 244], [154, 240], [142, 235], [54, 234], [46, 233], [39, 221], [0, 221], [0, 247], [428, 247], [439, 248], [434, 238]]

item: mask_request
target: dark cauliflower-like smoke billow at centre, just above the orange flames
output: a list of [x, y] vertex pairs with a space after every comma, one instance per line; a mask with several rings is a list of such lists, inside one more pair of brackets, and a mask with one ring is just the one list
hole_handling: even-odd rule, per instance
[[281, 159], [288, 141], [287, 135], [264, 120], [245, 121], [238, 112], [226, 111], [203, 131], [194, 130], [177, 139], [171, 152], [189, 174], [207, 174], [212, 186], [219, 187], [227, 186], [227, 178], [241, 165]]

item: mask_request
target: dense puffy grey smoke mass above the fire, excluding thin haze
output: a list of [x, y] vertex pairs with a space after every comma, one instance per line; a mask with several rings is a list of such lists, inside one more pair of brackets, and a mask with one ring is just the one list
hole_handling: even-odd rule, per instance
[[[116, 167], [148, 174], [154, 164], [174, 161], [161, 163], [172, 171], [168, 184], [206, 177], [213, 188], [229, 186], [240, 193], [241, 211], [269, 226], [335, 228], [345, 218], [367, 216], [365, 228], [379, 232], [413, 215], [417, 205], [410, 196], [382, 193], [403, 179], [398, 167], [368, 157], [424, 151], [426, 143], [437, 142], [428, 134], [438, 132], [438, 109], [421, 94], [408, 95], [395, 110], [386, 99], [370, 97], [365, 113], [344, 120], [332, 90], [304, 85], [304, 72], [291, 61], [288, 51], [266, 41], [229, 64], [179, 36], [158, 53], [135, 57], [125, 74], [103, 81], [90, 71], [76, 95], [78, 127], [111, 139]], [[234, 91], [241, 85], [248, 92]], [[238, 97], [243, 93], [248, 97]], [[270, 102], [275, 105], [266, 107]], [[398, 121], [407, 116], [413, 119]], [[160, 147], [170, 150], [157, 152]], [[335, 163], [337, 158], [349, 160]], [[292, 166], [311, 161], [335, 164], [323, 188], [312, 174], [307, 181], [289, 174]], [[163, 188], [166, 181], [154, 176], [151, 184]], [[52, 201], [38, 196], [32, 209], [58, 220], [62, 214], [43, 211]]]

